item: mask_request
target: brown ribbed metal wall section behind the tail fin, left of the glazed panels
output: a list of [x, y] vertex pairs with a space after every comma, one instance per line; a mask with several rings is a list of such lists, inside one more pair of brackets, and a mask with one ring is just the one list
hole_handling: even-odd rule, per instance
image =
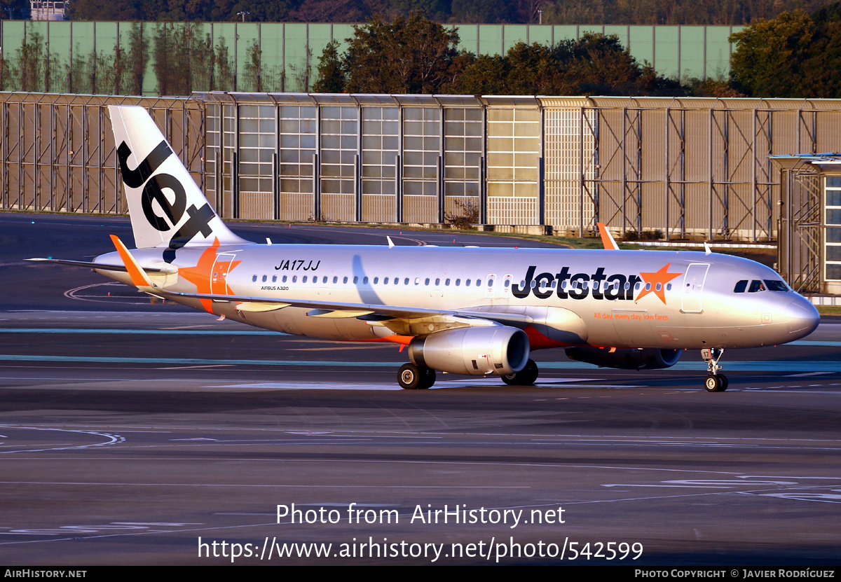
[[121, 214], [108, 104], [143, 104], [204, 186], [204, 108], [188, 99], [0, 93], [4, 209]]

